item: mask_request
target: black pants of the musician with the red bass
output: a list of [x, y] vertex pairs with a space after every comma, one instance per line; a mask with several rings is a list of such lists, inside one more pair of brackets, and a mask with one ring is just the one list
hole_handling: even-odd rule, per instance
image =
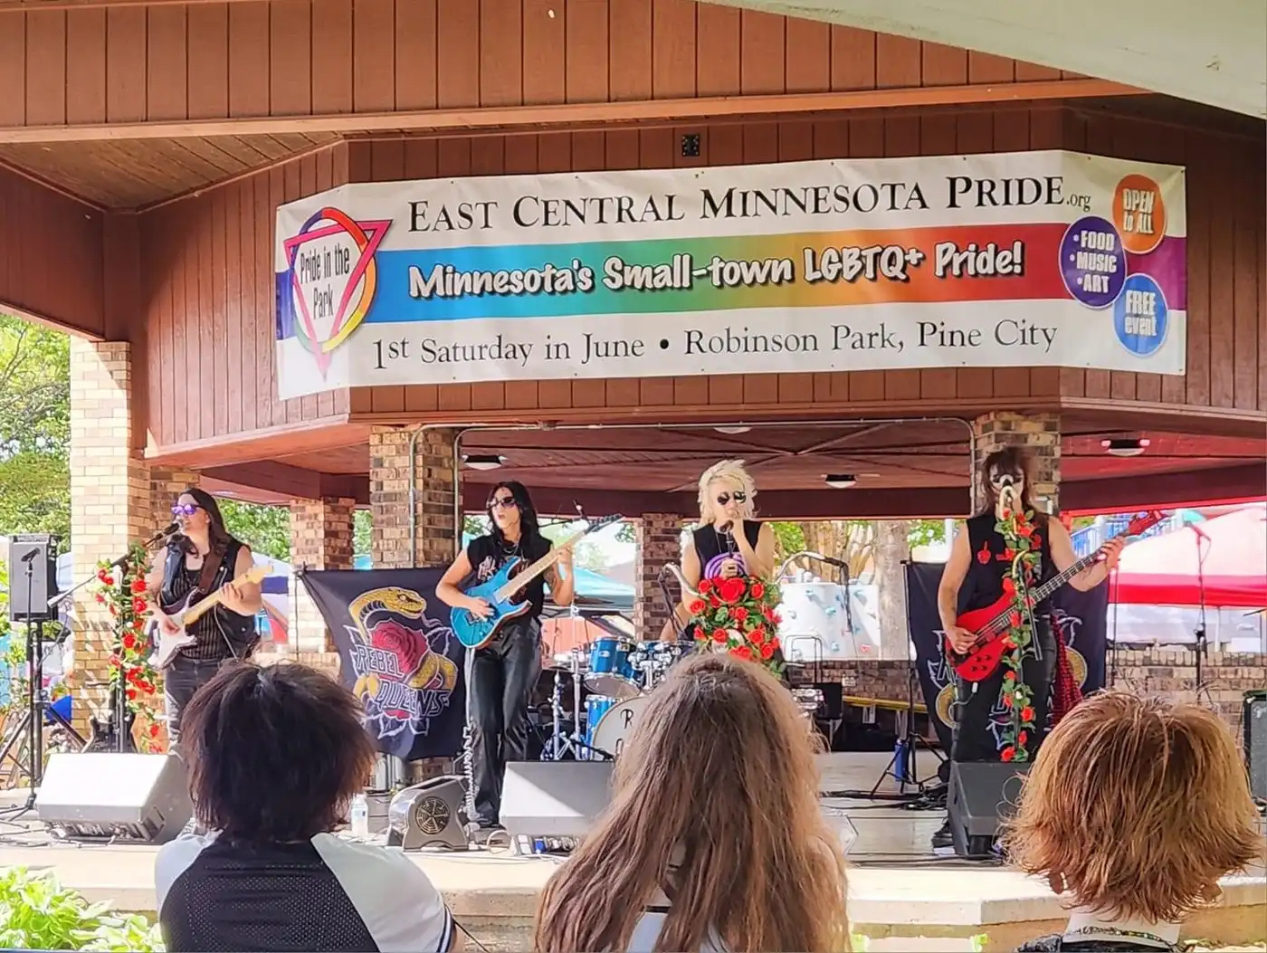
[[[1021, 675], [1025, 684], [1033, 692], [1030, 705], [1034, 708], [1033, 736], [1025, 745], [1033, 759], [1043, 739], [1047, 736], [1047, 708], [1048, 698], [1052, 693], [1052, 675], [1055, 672], [1055, 635], [1052, 631], [1050, 618], [1045, 615], [1035, 613], [1035, 641], [1041, 649], [1041, 656], [1035, 656], [1033, 645], [1026, 649], [1021, 662]], [[950, 757], [957, 762], [997, 762], [1000, 760], [998, 744], [991, 724], [995, 719], [1002, 719], [1003, 711], [998, 707], [998, 692], [1003, 687], [1003, 674], [1007, 668], [1000, 665], [995, 673], [977, 682], [977, 691], [973, 691], [972, 682], [955, 679], [955, 729]]]

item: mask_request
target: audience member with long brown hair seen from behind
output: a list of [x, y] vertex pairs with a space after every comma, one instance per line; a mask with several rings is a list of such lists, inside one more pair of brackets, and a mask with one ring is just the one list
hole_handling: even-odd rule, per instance
[[697, 655], [651, 693], [607, 812], [551, 877], [535, 948], [846, 950], [815, 744], [760, 665]]

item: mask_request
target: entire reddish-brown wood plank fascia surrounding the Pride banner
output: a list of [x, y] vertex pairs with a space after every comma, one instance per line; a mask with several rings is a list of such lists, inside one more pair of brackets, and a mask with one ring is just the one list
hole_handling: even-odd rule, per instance
[[[702, 152], [685, 160], [684, 132]], [[998, 368], [507, 381], [362, 388], [279, 402], [272, 364], [274, 208], [343, 181], [736, 165], [807, 158], [1086, 148], [1188, 165], [1188, 375]], [[142, 215], [150, 421], [161, 446], [352, 413], [476, 418], [536, 411], [1091, 398], [1267, 408], [1264, 195], [1254, 144], [1067, 109], [969, 110], [678, 129], [356, 141]], [[241, 349], [241, 350], [238, 350]]]

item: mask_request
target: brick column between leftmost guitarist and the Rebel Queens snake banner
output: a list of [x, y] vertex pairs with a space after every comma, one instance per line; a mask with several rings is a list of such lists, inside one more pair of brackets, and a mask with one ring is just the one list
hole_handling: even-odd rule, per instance
[[[290, 564], [295, 569], [351, 569], [355, 508], [355, 499], [290, 501]], [[290, 592], [288, 648], [314, 665], [324, 659], [310, 658], [313, 654], [334, 651], [329, 630], [317, 610], [317, 603], [298, 579], [294, 580]], [[328, 665], [321, 667], [328, 668]]]

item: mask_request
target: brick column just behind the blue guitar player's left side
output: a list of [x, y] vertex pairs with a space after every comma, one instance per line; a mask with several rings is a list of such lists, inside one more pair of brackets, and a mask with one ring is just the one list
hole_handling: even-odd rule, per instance
[[370, 431], [370, 509], [374, 565], [446, 566], [456, 553], [452, 430], [422, 431], [416, 441], [414, 551], [409, 551], [409, 441], [413, 428]]

